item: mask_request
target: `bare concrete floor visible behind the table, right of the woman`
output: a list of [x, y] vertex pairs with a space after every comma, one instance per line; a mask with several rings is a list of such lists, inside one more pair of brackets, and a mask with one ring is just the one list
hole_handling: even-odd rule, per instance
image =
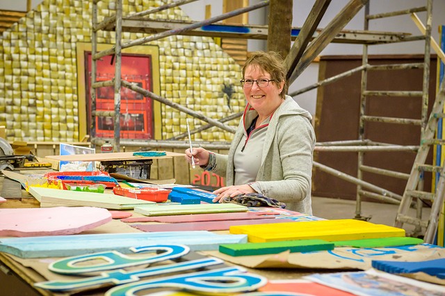
[[[312, 211], [314, 216], [329, 220], [355, 218], [355, 200], [312, 197]], [[394, 226], [397, 211], [397, 204], [362, 202], [362, 216], [371, 217], [371, 223]], [[415, 215], [415, 209], [410, 209], [410, 216]], [[429, 215], [430, 208], [423, 208], [423, 219], [428, 219]], [[414, 230], [414, 226], [405, 223], [403, 229], [409, 234]], [[422, 230], [424, 233], [425, 229]]]

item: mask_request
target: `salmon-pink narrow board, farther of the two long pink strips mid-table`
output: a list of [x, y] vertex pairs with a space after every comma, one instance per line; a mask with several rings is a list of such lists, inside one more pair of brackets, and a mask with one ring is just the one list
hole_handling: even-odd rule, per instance
[[184, 223], [184, 222], [202, 222], [202, 221], [275, 219], [275, 217], [276, 215], [274, 214], [247, 211], [243, 213], [132, 217], [132, 218], [122, 219], [121, 221], [125, 223], [136, 223], [136, 222]]

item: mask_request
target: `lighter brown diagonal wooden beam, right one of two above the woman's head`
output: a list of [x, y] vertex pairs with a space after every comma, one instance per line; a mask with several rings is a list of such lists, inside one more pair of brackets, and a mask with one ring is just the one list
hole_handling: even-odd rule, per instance
[[325, 29], [318, 35], [314, 41], [307, 46], [305, 53], [303, 53], [300, 62], [296, 66], [296, 70], [293, 71], [289, 78], [289, 84], [291, 84], [307, 66], [316, 58], [316, 56], [325, 49], [327, 44], [330, 44], [332, 40], [337, 36], [341, 29], [348, 24], [348, 22], [357, 15], [360, 9], [368, 2], [368, 0], [350, 0], [349, 3], [339, 12], [337, 16], [325, 27]]

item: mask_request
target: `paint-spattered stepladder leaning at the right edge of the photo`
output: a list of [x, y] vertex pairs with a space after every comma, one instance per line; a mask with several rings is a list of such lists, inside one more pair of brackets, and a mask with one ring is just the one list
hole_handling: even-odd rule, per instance
[[[394, 226], [403, 227], [403, 223], [415, 225], [416, 227], [426, 227], [426, 234], [424, 241], [426, 243], [432, 243], [435, 237], [437, 229], [437, 220], [439, 217], [439, 211], [444, 204], [445, 196], [445, 166], [432, 166], [426, 164], [426, 157], [430, 151], [430, 147], [437, 144], [444, 144], [444, 140], [435, 139], [437, 121], [440, 118], [444, 118], [444, 105], [445, 105], [445, 83], [442, 82], [442, 86], [439, 89], [439, 93], [436, 96], [432, 111], [428, 119], [425, 130], [423, 131], [423, 138], [421, 140], [421, 146], [417, 152], [414, 164], [412, 166], [410, 178], [407, 181], [405, 192], [401, 204], [398, 208], [396, 223]], [[421, 175], [423, 172], [438, 172], [439, 182], [437, 183], [435, 193], [416, 190], [419, 182], [421, 182]], [[431, 212], [428, 220], [422, 220], [419, 217], [408, 216], [408, 210], [412, 204], [413, 199], [432, 202]], [[418, 203], [419, 204], [419, 203]]]

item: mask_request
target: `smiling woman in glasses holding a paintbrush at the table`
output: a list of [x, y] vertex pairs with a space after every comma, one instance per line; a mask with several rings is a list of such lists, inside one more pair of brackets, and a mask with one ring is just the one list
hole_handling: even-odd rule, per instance
[[273, 52], [255, 52], [243, 67], [248, 102], [228, 155], [204, 148], [186, 150], [186, 159], [226, 177], [214, 202], [261, 193], [286, 209], [312, 215], [311, 178], [315, 134], [312, 116], [283, 93], [286, 71]]

